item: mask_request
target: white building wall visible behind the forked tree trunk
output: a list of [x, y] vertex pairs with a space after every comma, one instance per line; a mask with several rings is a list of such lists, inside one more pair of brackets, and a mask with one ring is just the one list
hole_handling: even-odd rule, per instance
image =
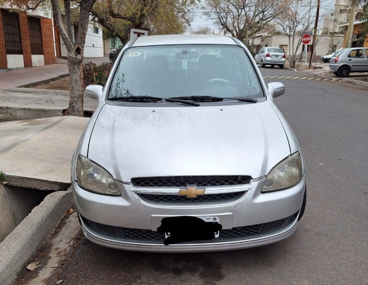
[[[98, 34], [93, 32], [93, 25], [88, 24], [88, 31], [86, 34], [86, 42], [84, 44], [84, 57], [103, 57], [103, 39], [102, 28], [98, 26]], [[67, 57], [68, 51], [65, 47], [63, 39], [60, 37], [61, 56]]]

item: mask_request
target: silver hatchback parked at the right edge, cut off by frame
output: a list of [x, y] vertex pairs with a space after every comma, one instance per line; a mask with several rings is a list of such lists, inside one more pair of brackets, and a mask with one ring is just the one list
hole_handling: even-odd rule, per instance
[[368, 72], [368, 48], [342, 49], [332, 56], [329, 67], [340, 77], [347, 77], [350, 72]]

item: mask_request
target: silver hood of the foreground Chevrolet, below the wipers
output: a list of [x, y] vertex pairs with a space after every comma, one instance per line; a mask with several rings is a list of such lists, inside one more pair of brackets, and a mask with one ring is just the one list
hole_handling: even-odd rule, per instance
[[266, 175], [290, 154], [269, 101], [230, 106], [103, 106], [88, 157], [114, 178]]

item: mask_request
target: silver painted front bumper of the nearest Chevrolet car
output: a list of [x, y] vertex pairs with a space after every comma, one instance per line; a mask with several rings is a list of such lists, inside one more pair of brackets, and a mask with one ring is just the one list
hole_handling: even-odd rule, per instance
[[[284, 219], [301, 208], [305, 191], [305, 177], [292, 188], [261, 193], [263, 179], [252, 181], [252, 190], [240, 199], [232, 202], [208, 202], [175, 204], [175, 203], [148, 203], [132, 193], [131, 186], [118, 183], [121, 197], [105, 196], [81, 189], [73, 181], [75, 203], [78, 213], [89, 221], [110, 225], [114, 227], [157, 230], [158, 216], [170, 215], [210, 215], [219, 216], [223, 229], [244, 227], [268, 223]], [[124, 250], [137, 250], [149, 252], [202, 252], [217, 250], [233, 250], [247, 247], [256, 247], [281, 241], [289, 237], [297, 227], [295, 218], [291, 224], [269, 234], [251, 236], [243, 239], [227, 241], [202, 241], [192, 243], [180, 243], [164, 246], [163, 244], [146, 241], [129, 241], [114, 238], [108, 234], [101, 234], [88, 227], [81, 219], [82, 230], [86, 238], [101, 246]]]

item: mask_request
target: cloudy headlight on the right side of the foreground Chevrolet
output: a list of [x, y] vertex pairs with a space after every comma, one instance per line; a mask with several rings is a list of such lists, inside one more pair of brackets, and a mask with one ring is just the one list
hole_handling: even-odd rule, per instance
[[303, 163], [299, 152], [280, 161], [267, 174], [261, 192], [282, 190], [297, 185], [303, 177]]

